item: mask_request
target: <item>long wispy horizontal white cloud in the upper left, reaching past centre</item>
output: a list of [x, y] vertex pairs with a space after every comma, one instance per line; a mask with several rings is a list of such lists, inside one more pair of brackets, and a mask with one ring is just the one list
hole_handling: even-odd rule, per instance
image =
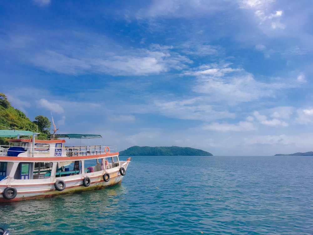
[[[113, 47], [114, 45], [112, 45]], [[73, 46], [71, 46], [73, 47]], [[62, 47], [61, 47], [62, 49]], [[171, 68], [181, 70], [184, 64], [192, 63], [188, 58], [171, 52], [171, 46], [152, 44], [148, 49], [127, 49], [122, 51], [98, 46], [88, 48], [76, 47], [74, 50], [38, 52], [30, 61], [44, 70], [52, 70], [64, 74], [84, 74], [97, 72], [117, 75], [149, 75], [166, 72]], [[80, 53], [77, 53], [79, 51]], [[67, 54], [66, 54], [67, 53]]]

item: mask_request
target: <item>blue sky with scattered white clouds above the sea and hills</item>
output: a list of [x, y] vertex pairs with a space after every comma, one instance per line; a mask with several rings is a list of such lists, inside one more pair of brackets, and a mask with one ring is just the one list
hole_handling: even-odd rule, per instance
[[313, 2], [0, 2], [1, 92], [118, 150], [313, 150]]

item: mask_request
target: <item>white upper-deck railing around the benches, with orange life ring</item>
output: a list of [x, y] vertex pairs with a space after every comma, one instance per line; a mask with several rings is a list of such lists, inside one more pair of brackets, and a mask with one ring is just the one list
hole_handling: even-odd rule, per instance
[[117, 146], [116, 145], [90, 145], [90, 146], [71, 146], [65, 147], [66, 156], [87, 156], [87, 155], [99, 155], [99, 154], [108, 154], [108, 153], [116, 153]]

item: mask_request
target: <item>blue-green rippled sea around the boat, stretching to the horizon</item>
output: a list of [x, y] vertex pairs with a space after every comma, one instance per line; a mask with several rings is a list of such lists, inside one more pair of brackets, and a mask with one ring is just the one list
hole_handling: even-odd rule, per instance
[[313, 234], [312, 165], [313, 156], [132, 156], [121, 184], [0, 204], [0, 227], [10, 235]]

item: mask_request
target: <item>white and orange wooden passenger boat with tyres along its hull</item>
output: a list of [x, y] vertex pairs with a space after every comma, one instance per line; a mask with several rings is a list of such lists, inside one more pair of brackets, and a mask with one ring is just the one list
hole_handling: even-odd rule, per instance
[[[116, 145], [104, 145], [101, 135], [53, 134], [39, 140], [38, 134], [0, 130], [0, 137], [14, 137], [0, 146], [0, 202], [102, 189], [126, 174], [131, 158], [121, 161]], [[73, 146], [73, 139], [80, 144]], [[102, 143], [88, 145], [91, 139]]]

